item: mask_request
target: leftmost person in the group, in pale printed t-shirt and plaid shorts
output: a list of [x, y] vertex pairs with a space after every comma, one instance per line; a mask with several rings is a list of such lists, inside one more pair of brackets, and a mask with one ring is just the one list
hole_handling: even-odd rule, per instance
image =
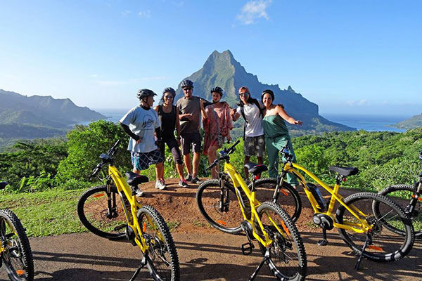
[[[155, 188], [163, 190], [165, 184], [160, 175], [162, 175], [164, 159], [160, 150], [158, 150], [154, 136], [154, 133], [156, 133], [158, 140], [161, 139], [160, 119], [158, 119], [157, 112], [151, 108], [154, 103], [154, 96], [157, 96], [157, 94], [149, 89], [141, 89], [136, 96], [139, 98], [141, 105], [129, 110], [120, 119], [120, 126], [130, 136], [127, 150], [131, 152], [134, 173], [140, 174], [141, 170], [148, 169], [151, 164], [155, 164], [157, 176]], [[143, 192], [139, 190], [136, 195], [142, 196]]]

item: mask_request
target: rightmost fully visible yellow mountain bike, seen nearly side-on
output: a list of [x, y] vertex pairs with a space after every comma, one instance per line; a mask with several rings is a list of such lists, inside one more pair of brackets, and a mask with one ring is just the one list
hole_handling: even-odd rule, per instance
[[[288, 204], [286, 209], [290, 210], [289, 214], [295, 221], [300, 216], [302, 203], [298, 192], [284, 191], [293, 189], [284, 178], [288, 172], [297, 176], [314, 209], [312, 220], [322, 228], [323, 239], [318, 242], [319, 245], [328, 244], [326, 230], [338, 228], [345, 243], [359, 255], [356, 269], [359, 268], [362, 256], [373, 261], [397, 261], [409, 253], [414, 244], [414, 228], [399, 205], [373, 192], [358, 192], [346, 198], [338, 194], [340, 183], [347, 176], [357, 174], [357, 168], [330, 166], [329, 170], [338, 174], [334, 188], [330, 188], [305, 167], [292, 162], [288, 144], [281, 150], [281, 154], [284, 157], [281, 174], [277, 178], [261, 178], [255, 187], [258, 190], [275, 188], [272, 201], [282, 207]], [[328, 202], [325, 202], [316, 185], [307, 183], [299, 170], [331, 194]], [[335, 205], [338, 209], [333, 214]]]

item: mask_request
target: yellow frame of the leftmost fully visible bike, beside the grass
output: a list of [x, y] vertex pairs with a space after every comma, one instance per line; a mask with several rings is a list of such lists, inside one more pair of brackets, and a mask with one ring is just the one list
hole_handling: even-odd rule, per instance
[[[116, 188], [117, 188], [117, 192], [120, 195], [120, 202], [122, 202], [122, 207], [124, 210], [124, 216], [126, 216], [127, 225], [130, 228], [132, 228], [132, 230], [134, 231], [134, 242], [138, 245], [139, 248], [141, 248], [141, 251], [145, 253], [145, 251], [148, 250], [149, 248], [148, 244], [146, 244], [146, 240], [142, 236], [145, 229], [142, 229], [141, 226], [139, 226], [138, 217], [136, 216], [137, 215], [136, 213], [138, 209], [141, 207], [141, 204], [139, 204], [139, 202], [136, 201], [136, 197], [132, 195], [132, 189], [124, 180], [124, 178], [122, 177], [122, 174], [120, 174], [120, 171], [113, 164], [110, 164], [108, 166], [108, 175], [109, 175], [109, 178], [107, 180], [107, 190], [108, 192], [110, 192], [110, 186], [111, 186], [110, 178], [111, 178], [113, 179], [113, 182], [115, 183]], [[130, 210], [127, 210], [127, 207], [124, 204], [124, 197], [126, 197], [127, 201], [130, 203]], [[112, 202], [110, 201], [111, 200], [108, 200], [109, 210], [112, 209], [113, 207], [115, 208], [115, 206], [113, 207], [111, 206]], [[132, 214], [133, 223], [129, 216], [129, 211], [130, 211], [130, 214]], [[148, 217], [148, 221], [151, 226], [154, 226], [153, 222], [151, 221], [149, 217]], [[143, 226], [143, 228], [145, 227], [146, 226]], [[155, 230], [157, 229], [155, 228]], [[163, 240], [163, 238], [161, 237], [161, 233], [159, 231], [157, 233], [159, 234], [160, 240]], [[138, 239], [138, 237], [140, 237], [141, 239]]]

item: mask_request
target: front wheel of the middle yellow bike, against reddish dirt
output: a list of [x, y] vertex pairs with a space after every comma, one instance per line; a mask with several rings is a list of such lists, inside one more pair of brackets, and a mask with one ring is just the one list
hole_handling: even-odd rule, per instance
[[[220, 211], [219, 209], [221, 202], [221, 188], [220, 181], [217, 179], [204, 181], [199, 186], [198, 191], [196, 192], [196, 203], [198, 204], [198, 209], [211, 226], [221, 230], [224, 233], [240, 233], [242, 231], [241, 223], [244, 218], [241, 208], [238, 206], [236, 191], [234, 190], [233, 185], [230, 185], [230, 183], [227, 182], [224, 184], [224, 188], [228, 190], [229, 194], [228, 211]], [[224, 192], [224, 200], [226, 200], [225, 193], [226, 192]], [[249, 200], [247, 197], [246, 200], [244, 200], [245, 194], [243, 190], [241, 193], [244, 195], [241, 197], [245, 206], [245, 210], [249, 211], [250, 215]]]

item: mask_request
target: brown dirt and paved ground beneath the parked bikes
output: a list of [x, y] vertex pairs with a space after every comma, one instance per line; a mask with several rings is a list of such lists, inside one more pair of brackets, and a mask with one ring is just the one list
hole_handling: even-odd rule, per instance
[[[196, 205], [197, 185], [178, 188], [169, 181], [168, 190], [158, 191], [153, 183], [144, 186], [143, 203], [156, 207], [166, 221], [177, 223], [172, 232], [181, 264], [181, 280], [248, 280], [262, 259], [258, 249], [243, 256], [243, 235], [230, 235], [210, 228]], [[341, 190], [342, 195], [350, 193]], [[303, 196], [303, 195], [302, 195]], [[307, 252], [307, 280], [422, 280], [422, 241], [404, 259], [394, 263], [357, 261], [336, 230], [328, 231], [325, 247], [316, 242], [321, 230], [312, 226], [312, 210], [305, 204], [298, 221]], [[76, 207], [75, 207], [76, 209]], [[76, 211], [75, 211], [76, 212]], [[36, 280], [129, 280], [139, 266], [141, 253], [128, 242], [110, 241], [91, 233], [31, 238]], [[257, 244], [255, 242], [255, 247]], [[136, 280], [149, 280], [141, 270]], [[0, 280], [8, 280], [0, 270]], [[266, 266], [256, 280], [275, 280]]]

